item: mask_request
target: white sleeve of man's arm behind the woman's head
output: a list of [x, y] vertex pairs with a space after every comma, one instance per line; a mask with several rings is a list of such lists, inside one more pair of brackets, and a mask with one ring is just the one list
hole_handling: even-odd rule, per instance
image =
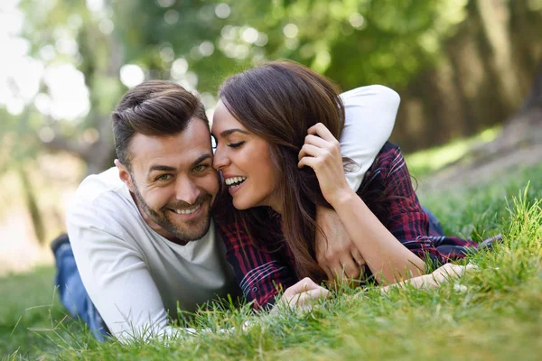
[[342, 93], [341, 99], [346, 113], [341, 153], [357, 163], [346, 173], [346, 180], [352, 190], [358, 190], [365, 172], [388, 141], [401, 98], [390, 88], [371, 85]]

